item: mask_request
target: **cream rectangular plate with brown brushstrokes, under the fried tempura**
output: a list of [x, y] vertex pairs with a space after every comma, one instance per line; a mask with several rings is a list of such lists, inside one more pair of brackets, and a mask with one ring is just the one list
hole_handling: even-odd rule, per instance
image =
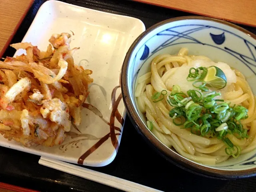
[[[52, 34], [74, 32], [70, 47], [80, 47], [73, 56], [74, 62], [93, 71], [87, 107], [82, 109], [79, 131], [72, 127], [60, 146], [28, 148], [2, 136], [0, 146], [87, 166], [105, 166], [112, 162], [126, 116], [120, 71], [130, 45], [144, 30], [144, 24], [136, 18], [54, 0], [45, 2], [22, 42], [31, 42], [40, 50], [46, 50]], [[15, 55], [22, 53], [24, 50], [18, 50]]]

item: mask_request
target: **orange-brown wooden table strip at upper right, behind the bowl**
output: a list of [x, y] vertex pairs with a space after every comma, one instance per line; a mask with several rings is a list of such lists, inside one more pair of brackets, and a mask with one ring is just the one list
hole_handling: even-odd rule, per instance
[[256, 27], [256, 0], [135, 0]]

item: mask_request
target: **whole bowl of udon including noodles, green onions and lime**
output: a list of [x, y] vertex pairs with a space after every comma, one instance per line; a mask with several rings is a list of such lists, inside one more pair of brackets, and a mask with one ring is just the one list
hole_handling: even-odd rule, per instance
[[170, 162], [203, 176], [256, 175], [256, 36], [201, 16], [148, 28], [126, 54], [128, 115]]

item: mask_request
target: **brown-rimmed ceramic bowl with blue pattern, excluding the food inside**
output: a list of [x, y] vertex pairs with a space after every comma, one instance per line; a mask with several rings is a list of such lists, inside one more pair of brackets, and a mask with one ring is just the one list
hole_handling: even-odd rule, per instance
[[243, 178], [256, 175], [256, 150], [226, 162], [208, 166], [188, 160], [160, 142], [146, 127], [138, 111], [134, 84], [138, 73], [150, 71], [152, 59], [163, 53], [177, 54], [180, 48], [189, 54], [205, 55], [215, 62], [228, 63], [240, 70], [256, 93], [256, 36], [247, 30], [213, 18], [189, 16], [160, 22], [143, 32], [126, 54], [121, 86], [128, 115], [138, 132], [170, 162], [186, 170], [214, 178]]

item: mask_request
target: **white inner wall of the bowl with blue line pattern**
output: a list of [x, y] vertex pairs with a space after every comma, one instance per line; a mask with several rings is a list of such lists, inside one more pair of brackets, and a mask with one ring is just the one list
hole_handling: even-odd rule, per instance
[[[212, 60], [226, 62], [240, 70], [256, 93], [256, 40], [236, 28], [210, 20], [179, 20], [155, 28], [134, 48], [128, 68], [128, 89], [133, 105], [136, 78], [150, 70], [150, 62], [157, 54], [176, 54], [182, 47], [189, 54], [205, 55]], [[143, 66], [143, 67], [142, 67]], [[137, 109], [136, 109], [137, 110]], [[137, 110], [145, 123], [145, 118]], [[256, 168], [256, 150], [237, 159], [207, 166], [220, 170]]]

